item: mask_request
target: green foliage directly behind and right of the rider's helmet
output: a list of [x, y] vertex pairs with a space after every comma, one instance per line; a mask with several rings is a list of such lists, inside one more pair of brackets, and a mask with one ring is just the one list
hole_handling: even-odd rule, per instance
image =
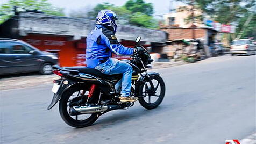
[[153, 5], [143, 0], [129, 0], [124, 6], [115, 6], [110, 3], [97, 4], [88, 12], [88, 17], [95, 19], [98, 11], [109, 9], [117, 13], [119, 24], [129, 24], [147, 28], [157, 28], [157, 21], [152, 17]]

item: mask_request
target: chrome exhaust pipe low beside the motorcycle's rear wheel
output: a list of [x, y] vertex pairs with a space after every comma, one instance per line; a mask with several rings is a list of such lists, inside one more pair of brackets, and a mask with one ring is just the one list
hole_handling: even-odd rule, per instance
[[88, 105], [88, 106], [73, 106], [69, 108], [70, 116], [76, 116], [80, 114], [104, 112], [108, 110], [106, 105]]

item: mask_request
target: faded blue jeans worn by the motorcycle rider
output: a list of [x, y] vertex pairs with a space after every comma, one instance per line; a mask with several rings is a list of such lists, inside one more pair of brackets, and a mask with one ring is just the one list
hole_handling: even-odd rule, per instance
[[109, 58], [106, 62], [100, 63], [98, 66], [96, 66], [95, 69], [107, 75], [123, 74], [121, 96], [130, 96], [132, 85], [132, 66], [130, 64], [124, 61]]

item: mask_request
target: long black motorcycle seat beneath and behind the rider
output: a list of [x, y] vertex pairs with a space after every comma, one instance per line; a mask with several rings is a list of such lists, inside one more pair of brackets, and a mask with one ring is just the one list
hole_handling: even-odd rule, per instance
[[96, 70], [94, 68], [88, 68], [88, 67], [84, 67], [84, 66], [75, 66], [75, 67], [63, 67], [64, 69], [69, 69], [69, 70], [78, 70], [81, 73], [85, 73], [85, 74], [90, 74], [93, 76], [97, 76], [106, 80], [113, 80], [113, 79], [117, 79], [117, 78], [122, 78], [122, 74], [116, 74], [116, 75], [106, 75], [101, 73], [101, 71]]

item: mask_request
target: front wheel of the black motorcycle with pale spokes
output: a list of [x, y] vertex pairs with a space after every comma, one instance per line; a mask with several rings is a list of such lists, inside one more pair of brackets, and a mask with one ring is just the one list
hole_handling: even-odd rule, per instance
[[144, 84], [139, 87], [139, 103], [146, 109], [154, 109], [161, 104], [163, 97], [165, 97], [165, 82], [161, 76], [152, 75], [152, 83], [155, 91], [152, 91], [150, 82], [144, 79]]

